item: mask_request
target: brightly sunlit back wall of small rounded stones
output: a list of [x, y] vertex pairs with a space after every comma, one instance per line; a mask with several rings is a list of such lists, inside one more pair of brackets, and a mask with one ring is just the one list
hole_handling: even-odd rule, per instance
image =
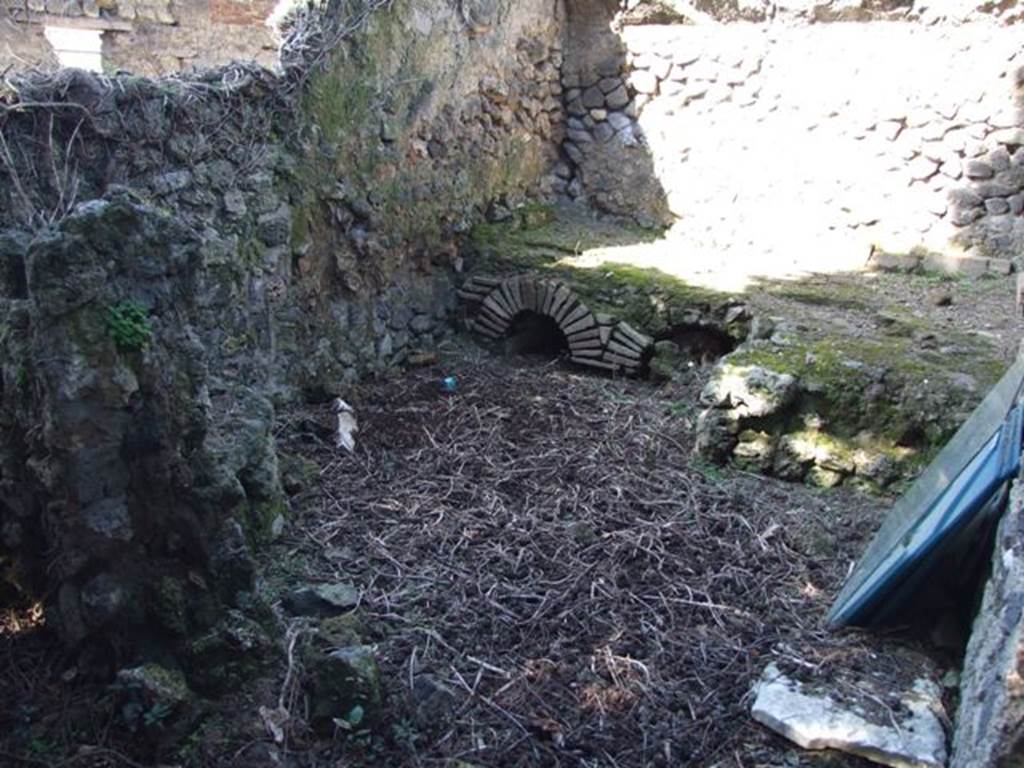
[[[646, 203], [656, 219], [667, 208], [695, 246], [724, 254], [1019, 255], [1017, 16], [878, 15], [620, 15], [606, 33], [617, 48], [566, 61], [566, 193], [614, 213]], [[630, 194], [636, 165], [653, 171], [660, 198]]]

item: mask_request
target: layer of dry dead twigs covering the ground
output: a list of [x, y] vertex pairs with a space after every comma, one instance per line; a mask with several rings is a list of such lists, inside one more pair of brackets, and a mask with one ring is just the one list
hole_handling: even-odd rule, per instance
[[821, 618], [879, 505], [694, 466], [694, 394], [463, 360], [353, 398], [355, 456], [294, 438], [303, 575], [365, 587], [395, 721], [456, 691], [387, 764], [733, 765], [769, 660], [867, 657]]

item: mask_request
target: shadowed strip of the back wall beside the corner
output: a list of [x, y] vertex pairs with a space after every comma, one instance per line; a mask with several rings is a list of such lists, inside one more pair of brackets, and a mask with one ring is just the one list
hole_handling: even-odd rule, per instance
[[615, 0], [567, 0], [562, 85], [567, 112], [558, 175], [574, 200], [644, 225], [667, 225], [671, 213], [637, 122], [627, 50], [611, 30]]

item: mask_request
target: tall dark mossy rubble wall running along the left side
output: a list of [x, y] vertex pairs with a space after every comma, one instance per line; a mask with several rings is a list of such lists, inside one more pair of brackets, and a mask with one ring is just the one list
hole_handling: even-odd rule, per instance
[[280, 75], [11, 80], [0, 551], [69, 643], [258, 656], [274, 407], [431, 349], [454, 239], [557, 157], [558, 14], [469, 5], [341, 3]]

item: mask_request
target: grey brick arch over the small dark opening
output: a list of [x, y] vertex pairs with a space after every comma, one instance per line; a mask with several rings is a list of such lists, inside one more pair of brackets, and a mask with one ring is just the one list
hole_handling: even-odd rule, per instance
[[524, 312], [550, 317], [568, 344], [571, 360], [604, 371], [639, 373], [654, 340], [625, 321], [591, 311], [560, 281], [531, 275], [474, 275], [459, 291], [469, 328], [490, 341], [505, 338]]

